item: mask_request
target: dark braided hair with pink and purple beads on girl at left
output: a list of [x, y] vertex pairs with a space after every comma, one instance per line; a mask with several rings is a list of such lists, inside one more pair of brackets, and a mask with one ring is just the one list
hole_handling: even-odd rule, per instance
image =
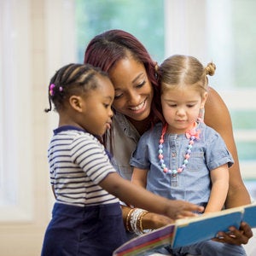
[[48, 87], [49, 108], [45, 108], [44, 112], [47, 113], [52, 110], [52, 103], [55, 110], [59, 111], [70, 96], [95, 90], [98, 86], [96, 75], [108, 77], [108, 73], [102, 72], [100, 68], [90, 64], [71, 63], [61, 67], [50, 79]]

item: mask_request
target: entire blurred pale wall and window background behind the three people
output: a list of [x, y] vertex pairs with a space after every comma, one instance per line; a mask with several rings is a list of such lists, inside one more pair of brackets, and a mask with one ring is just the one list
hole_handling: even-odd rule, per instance
[[108, 29], [131, 32], [159, 63], [186, 54], [216, 64], [209, 84], [230, 109], [241, 175], [255, 199], [255, 9], [253, 0], [0, 0], [1, 256], [40, 254], [53, 205], [49, 79], [83, 62], [90, 39]]

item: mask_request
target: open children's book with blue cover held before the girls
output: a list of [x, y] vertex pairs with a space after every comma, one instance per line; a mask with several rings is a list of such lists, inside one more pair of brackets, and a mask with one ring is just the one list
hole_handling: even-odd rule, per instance
[[220, 212], [211, 212], [192, 218], [177, 219], [174, 224], [154, 230], [127, 241], [113, 252], [113, 256], [143, 255], [156, 247], [171, 245], [184, 247], [212, 239], [219, 231], [227, 232], [230, 226], [239, 228], [241, 221], [256, 227], [256, 203]]

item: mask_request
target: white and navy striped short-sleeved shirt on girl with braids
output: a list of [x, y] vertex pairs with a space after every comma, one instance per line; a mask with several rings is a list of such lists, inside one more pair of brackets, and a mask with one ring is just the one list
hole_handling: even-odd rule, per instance
[[119, 202], [98, 185], [115, 170], [102, 144], [90, 133], [69, 125], [55, 129], [48, 160], [57, 202], [77, 207]]

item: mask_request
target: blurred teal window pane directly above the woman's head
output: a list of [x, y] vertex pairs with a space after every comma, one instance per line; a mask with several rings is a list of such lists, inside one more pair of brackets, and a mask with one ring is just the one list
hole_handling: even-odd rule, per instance
[[76, 0], [78, 59], [90, 39], [109, 29], [135, 35], [156, 61], [164, 58], [165, 17], [163, 0]]

